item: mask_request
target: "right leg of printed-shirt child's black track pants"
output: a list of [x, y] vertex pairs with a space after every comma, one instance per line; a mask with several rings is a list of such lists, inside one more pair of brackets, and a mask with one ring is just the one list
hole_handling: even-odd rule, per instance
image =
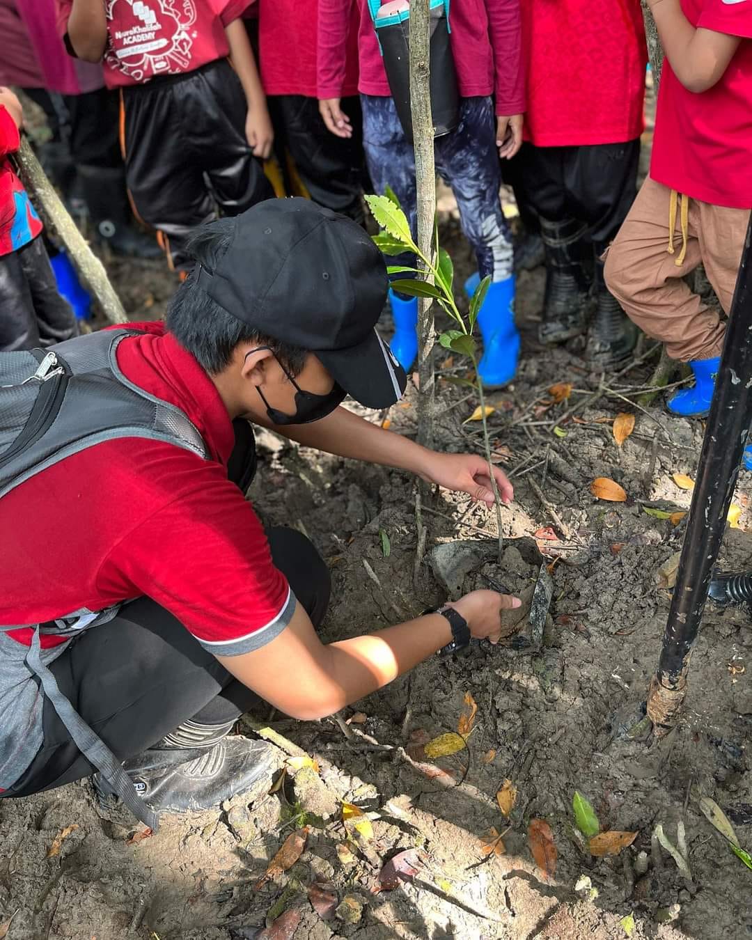
[[180, 86], [180, 112], [199, 164], [224, 215], [238, 215], [274, 196], [245, 138], [248, 105], [240, 79], [226, 60]]

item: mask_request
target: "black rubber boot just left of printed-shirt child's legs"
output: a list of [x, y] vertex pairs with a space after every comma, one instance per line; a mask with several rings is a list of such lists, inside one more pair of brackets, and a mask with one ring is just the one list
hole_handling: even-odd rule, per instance
[[100, 243], [127, 258], [163, 257], [156, 239], [133, 224], [125, 173], [120, 167], [84, 164], [78, 167], [78, 178]]

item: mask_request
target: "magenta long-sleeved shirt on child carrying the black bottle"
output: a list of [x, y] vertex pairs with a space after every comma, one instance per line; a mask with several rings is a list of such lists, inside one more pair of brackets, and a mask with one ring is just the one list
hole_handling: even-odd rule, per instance
[[[358, 90], [381, 97], [391, 94], [367, 0], [319, 0], [320, 99], [340, 97], [352, 3], [360, 14]], [[495, 92], [496, 114], [525, 111], [520, 0], [452, 0], [449, 23], [462, 97]]]

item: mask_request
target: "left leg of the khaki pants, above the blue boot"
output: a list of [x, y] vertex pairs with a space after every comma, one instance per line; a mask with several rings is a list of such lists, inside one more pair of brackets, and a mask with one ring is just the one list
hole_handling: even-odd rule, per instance
[[[690, 203], [682, 258], [682, 211], [680, 207], [670, 229], [670, 196], [666, 186], [645, 180], [608, 249], [605, 280], [630, 319], [649, 337], [662, 340], [672, 359], [710, 359], [721, 352], [724, 327], [682, 280], [702, 259], [699, 208]], [[669, 236], [675, 243], [673, 254], [667, 251]]]

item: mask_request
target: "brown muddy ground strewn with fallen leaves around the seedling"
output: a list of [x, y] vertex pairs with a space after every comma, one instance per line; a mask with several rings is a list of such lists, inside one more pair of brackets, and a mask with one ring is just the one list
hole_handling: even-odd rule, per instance
[[[459, 282], [472, 268], [450, 210], [442, 231]], [[162, 313], [174, 283], [159, 263], [108, 263], [134, 319]], [[682, 541], [681, 521], [646, 509], [688, 509], [691, 493], [672, 475], [694, 475], [701, 424], [666, 415], [660, 397], [645, 408], [630, 403], [655, 363], [647, 343], [605, 377], [589, 374], [576, 348], [541, 348], [542, 281], [540, 269], [520, 277], [522, 366], [490, 400], [496, 459], [515, 486], [514, 505], [502, 509], [501, 564], [493, 510], [428, 493], [427, 556], [414, 582], [413, 481], [269, 433], [259, 435], [249, 493], [265, 521], [298, 526], [327, 559], [334, 596], [326, 640], [407, 619], [474, 587], [529, 594], [542, 549], [542, 560], [556, 563], [540, 648], [517, 637], [474, 644], [458, 659], [434, 657], [348, 709], [341, 717], [350, 724], [248, 716], [240, 730], [264, 727], [280, 745], [281, 785], [270, 777], [220, 812], [166, 818], [148, 838], [139, 838], [140, 825], [103, 819], [86, 782], [0, 801], [0, 937], [720, 940], [752, 932], [752, 872], [697, 807], [701, 792], [752, 821], [744, 814], [752, 804], [748, 611], [708, 608], [678, 728], [656, 742], [639, 724], [670, 602], [656, 572]], [[479, 425], [465, 423], [475, 401], [446, 381], [462, 367], [445, 359], [441, 368], [436, 446], [478, 449]], [[556, 383], [572, 385], [569, 398], [553, 401]], [[620, 412], [635, 415], [635, 430], [619, 447], [612, 424]], [[389, 415], [366, 415], [414, 434], [415, 387]], [[596, 499], [589, 487], [598, 477], [619, 482], [627, 500]], [[729, 529], [723, 547], [727, 568], [748, 564], [749, 492], [743, 471], [734, 499], [740, 528]], [[459, 542], [463, 568], [447, 587], [431, 553]], [[521, 635], [529, 638], [525, 623]], [[465, 746], [430, 760], [424, 744], [457, 731], [468, 694], [478, 711]], [[496, 801], [505, 780], [517, 791], [509, 818]], [[575, 790], [603, 830], [635, 832], [633, 844], [616, 856], [589, 854], [573, 826]], [[359, 830], [342, 823], [342, 801], [368, 814], [370, 831], [360, 817]], [[531, 851], [533, 820], [549, 824], [556, 845], [548, 876]], [[645, 858], [655, 825], [676, 842], [680, 820], [691, 880], [666, 852]], [[283, 841], [305, 827], [298, 861], [259, 884]], [[492, 829], [503, 833], [503, 849], [484, 853]], [[740, 823], [737, 833], [752, 846], [752, 827]], [[384, 862], [403, 850], [412, 850], [416, 873], [374, 890]]]

